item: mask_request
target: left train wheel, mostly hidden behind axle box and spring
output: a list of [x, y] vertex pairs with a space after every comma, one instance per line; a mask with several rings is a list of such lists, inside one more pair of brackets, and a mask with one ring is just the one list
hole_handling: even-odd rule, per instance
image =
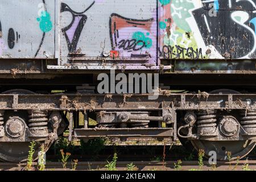
[[[35, 93], [29, 90], [15, 89], [15, 90], [9, 90], [7, 92], [3, 92], [2, 94], [35, 94]], [[14, 113], [15, 115], [18, 115], [20, 118], [29, 117], [29, 114], [27, 113], [27, 111], [16, 111], [16, 112], [5, 111], [5, 114], [4, 114], [5, 118], [9, 118]], [[3, 115], [1, 115], [1, 117], [3, 117]], [[45, 130], [48, 131], [47, 129]], [[34, 150], [35, 150], [34, 159], [38, 158], [38, 152], [42, 145], [44, 145], [44, 151], [47, 151], [52, 143], [53, 143], [53, 139], [36, 142], [36, 145], [34, 147]], [[3, 162], [26, 162], [28, 157], [28, 151], [30, 150], [29, 146], [30, 146], [30, 142], [0, 142], [0, 160], [2, 160]]]

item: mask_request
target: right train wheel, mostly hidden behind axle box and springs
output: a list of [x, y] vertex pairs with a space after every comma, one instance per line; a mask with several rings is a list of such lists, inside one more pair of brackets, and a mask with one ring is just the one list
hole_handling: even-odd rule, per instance
[[[220, 89], [209, 92], [210, 94], [240, 94], [235, 90]], [[209, 140], [191, 140], [191, 143], [197, 151], [204, 150], [205, 156], [210, 157], [210, 151], [216, 151], [217, 160], [228, 160], [227, 152], [231, 152], [232, 160], [238, 157], [242, 159], [256, 145], [256, 140], [239, 140], [239, 141], [209, 141]]]

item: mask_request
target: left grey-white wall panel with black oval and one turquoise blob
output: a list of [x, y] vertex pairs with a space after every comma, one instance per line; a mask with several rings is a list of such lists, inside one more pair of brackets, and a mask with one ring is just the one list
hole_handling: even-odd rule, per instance
[[[39, 11], [38, 5], [43, 9]], [[54, 15], [54, 6], [49, 0], [1, 1], [0, 57], [45, 58], [45, 54], [53, 57], [55, 34], [51, 31], [54, 29], [51, 14]]]

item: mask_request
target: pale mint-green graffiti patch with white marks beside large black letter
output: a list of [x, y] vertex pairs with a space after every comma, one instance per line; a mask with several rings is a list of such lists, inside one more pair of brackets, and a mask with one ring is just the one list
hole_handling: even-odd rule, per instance
[[177, 24], [177, 27], [183, 29], [186, 32], [191, 31], [191, 28], [185, 19], [191, 17], [191, 13], [189, 13], [189, 10], [193, 9], [194, 7], [195, 6], [193, 5], [192, 2], [172, 1], [172, 5], [171, 5], [172, 19]]

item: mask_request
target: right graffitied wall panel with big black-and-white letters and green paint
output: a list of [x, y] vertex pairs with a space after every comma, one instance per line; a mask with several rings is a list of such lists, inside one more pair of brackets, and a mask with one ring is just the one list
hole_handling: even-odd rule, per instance
[[[200, 59], [250, 59], [256, 52], [255, 2], [160, 1], [160, 49], [202, 50]], [[221, 11], [220, 11], [221, 10]], [[172, 23], [167, 26], [167, 19]], [[186, 36], [189, 33], [191, 36]], [[250, 40], [250, 41], [249, 41]], [[210, 49], [211, 54], [208, 54]], [[159, 52], [160, 54], [160, 52]], [[171, 54], [172, 55], [172, 54]], [[181, 56], [183, 57], [183, 56]], [[184, 56], [184, 59], [192, 59]]]

